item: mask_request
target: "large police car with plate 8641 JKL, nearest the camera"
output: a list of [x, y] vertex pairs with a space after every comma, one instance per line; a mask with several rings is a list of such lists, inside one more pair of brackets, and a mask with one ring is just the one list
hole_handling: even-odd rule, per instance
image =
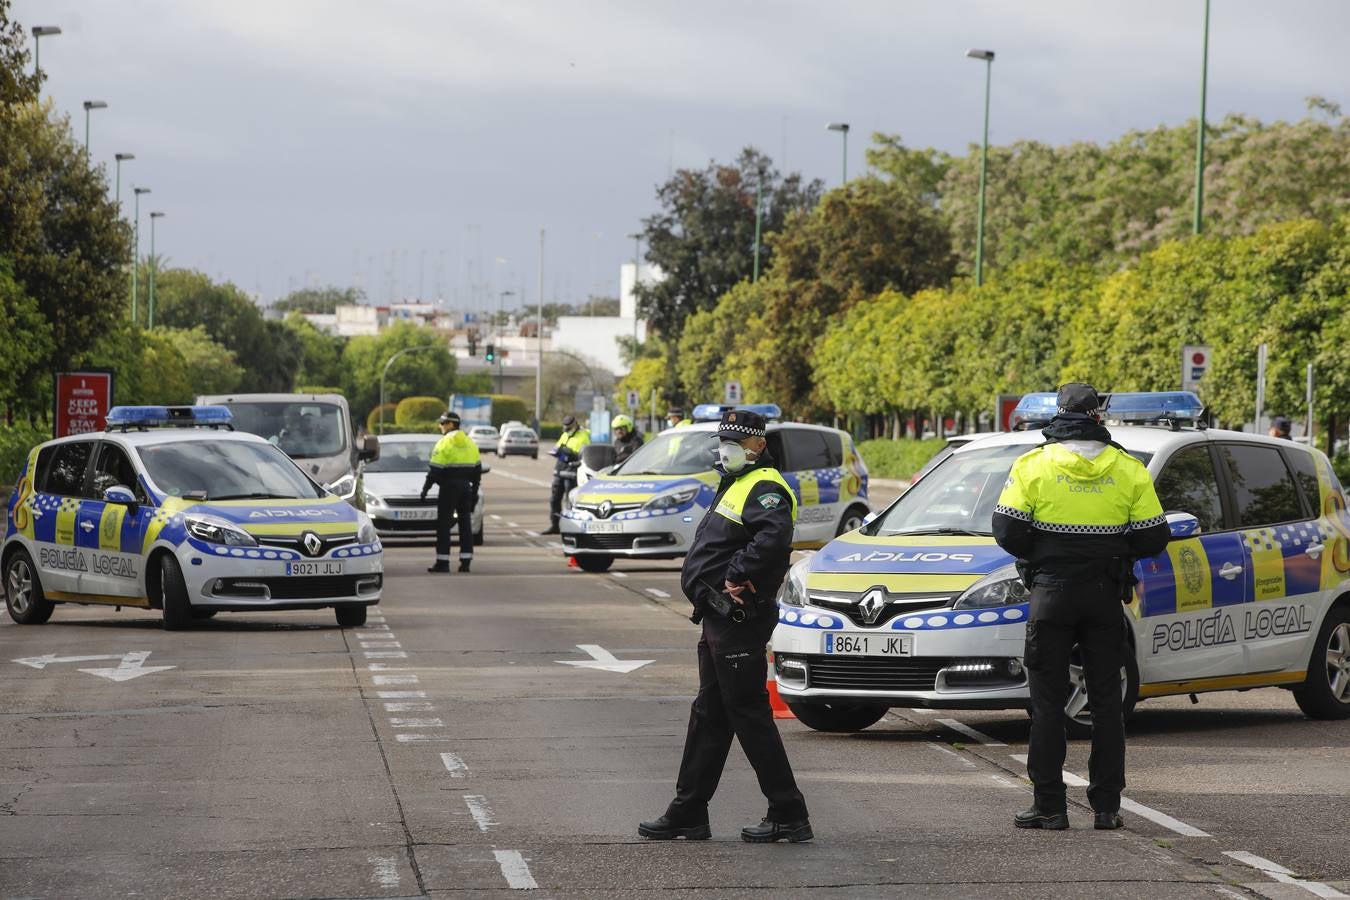
[[[1054, 394], [1023, 398], [1034, 426]], [[1172, 541], [1135, 564], [1122, 615], [1126, 710], [1202, 691], [1284, 687], [1312, 718], [1350, 716], [1350, 515], [1324, 455], [1204, 428], [1189, 393], [1114, 394], [1106, 424], [1145, 463]], [[828, 731], [887, 707], [1025, 708], [1027, 595], [991, 536], [1037, 430], [956, 449], [863, 528], [792, 567], [772, 640], [779, 692]], [[1091, 490], [1091, 486], [1085, 486]], [[1091, 725], [1081, 668], [1066, 708]]]

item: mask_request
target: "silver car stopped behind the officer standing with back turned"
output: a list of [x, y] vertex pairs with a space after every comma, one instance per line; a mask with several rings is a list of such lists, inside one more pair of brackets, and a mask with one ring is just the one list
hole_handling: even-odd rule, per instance
[[[421, 499], [431, 451], [437, 434], [385, 434], [379, 459], [366, 464], [363, 478], [366, 513], [383, 538], [436, 536], [436, 486]], [[489, 466], [483, 466], [487, 472]], [[474, 544], [483, 542], [483, 491], [474, 505]]]

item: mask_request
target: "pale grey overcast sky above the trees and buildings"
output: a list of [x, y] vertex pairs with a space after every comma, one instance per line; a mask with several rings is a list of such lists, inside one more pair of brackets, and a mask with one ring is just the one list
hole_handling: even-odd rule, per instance
[[[170, 264], [265, 300], [616, 296], [671, 167], [755, 144], [840, 181], [873, 131], [961, 151], [1110, 140], [1199, 108], [1203, 0], [15, 0], [45, 93], [163, 210]], [[1210, 119], [1350, 108], [1350, 3], [1214, 0]], [[109, 182], [112, 177], [109, 174]], [[142, 233], [142, 252], [148, 236]], [[517, 298], [505, 302], [512, 306]]]

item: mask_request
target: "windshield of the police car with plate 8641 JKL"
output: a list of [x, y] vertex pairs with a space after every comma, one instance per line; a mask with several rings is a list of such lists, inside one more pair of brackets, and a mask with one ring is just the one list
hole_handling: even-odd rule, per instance
[[[865, 534], [992, 534], [994, 507], [1018, 456], [1031, 444], [952, 453], [864, 529]], [[1148, 466], [1152, 453], [1130, 451]]]

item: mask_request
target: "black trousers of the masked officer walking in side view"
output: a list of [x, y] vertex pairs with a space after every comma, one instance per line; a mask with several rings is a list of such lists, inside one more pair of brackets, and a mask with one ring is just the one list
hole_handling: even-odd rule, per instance
[[707, 801], [722, 779], [733, 735], [741, 742], [760, 791], [768, 797], [768, 818], [774, 822], [806, 818], [806, 800], [796, 789], [783, 738], [768, 706], [764, 645], [776, 623], [771, 609], [740, 625], [711, 614], [703, 619], [703, 637], [698, 641], [698, 696], [688, 714], [675, 799], [666, 810], [672, 822], [707, 820]]

